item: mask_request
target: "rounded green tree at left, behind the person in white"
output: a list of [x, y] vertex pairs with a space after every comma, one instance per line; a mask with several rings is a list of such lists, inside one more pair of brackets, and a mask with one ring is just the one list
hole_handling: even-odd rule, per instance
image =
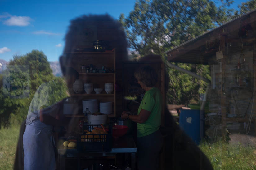
[[[8, 126], [10, 123], [20, 123], [23, 121], [27, 114], [31, 100], [34, 97], [35, 91], [37, 88], [44, 82], [55, 79], [58, 89], [53, 94], [53, 97], [58, 96], [57, 94], [62, 94], [58, 96], [58, 99], [61, 100], [66, 95], [61, 93], [61, 91], [66, 91], [65, 83], [62, 78], [54, 77], [52, 74], [52, 69], [50, 64], [47, 61], [46, 55], [42, 51], [32, 50], [30, 53], [21, 56], [14, 56], [13, 59], [8, 63], [8, 66], [13, 66], [19, 70], [20, 66], [28, 65], [29, 67], [25, 68], [24, 72], [29, 72], [29, 97], [25, 99], [21, 98], [11, 98], [10, 96], [5, 96], [3, 94], [2, 83], [0, 85], [0, 127]], [[7, 67], [8, 67], [7, 66]], [[7, 70], [6, 70], [7, 71]], [[19, 73], [19, 72], [18, 72]], [[20, 73], [22, 74], [22, 73]], [[14, 76], [14, 81], [16, 84], [21, 85], [22, 78], [20, 76]], [[3, 75], [0, 76], [2, 82]], [[16, 91], [16, 94], [19, 94], [19, 91]]]

